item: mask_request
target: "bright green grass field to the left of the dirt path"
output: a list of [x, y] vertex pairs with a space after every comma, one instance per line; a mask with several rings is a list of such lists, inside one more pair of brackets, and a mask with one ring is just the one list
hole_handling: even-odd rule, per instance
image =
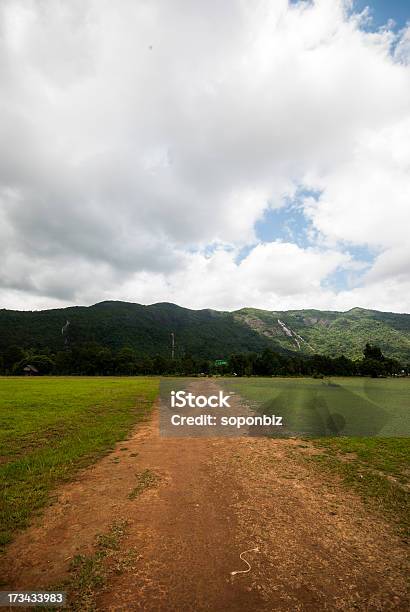
[[0, 545], [149, 413], [153, 378], [0, 378]]

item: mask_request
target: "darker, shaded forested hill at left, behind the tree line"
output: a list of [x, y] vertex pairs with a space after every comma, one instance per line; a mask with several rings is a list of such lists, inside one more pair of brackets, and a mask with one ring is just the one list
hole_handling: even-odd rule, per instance
[[168, 303], [101, 302], [34, 312], [0, 310], [0, 352], [11, 345], [58, 351], [67, 345], [96, 342], [111, 349], [131, 347], [140, 355], [170, 356], [171, 332], [175, 357], [217, 359], [273, 346], [231, 313], [189, 310]]

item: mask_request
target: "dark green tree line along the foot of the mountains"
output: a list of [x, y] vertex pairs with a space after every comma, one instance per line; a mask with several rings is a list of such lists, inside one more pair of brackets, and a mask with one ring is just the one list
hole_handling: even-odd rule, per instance
[[282, 355], [269, 348], [262, 353], [235, 353], [226, 363], [185, 356], [176, 359], [139, 355], [130, 347], [112, 350], [94, 342], [51, 352], [8, 347], [0, 354], [0, 373], [22, 375], [33, 366], [44, 375], [236, 375], [236, 376], [392, 376], [408, 374], [409, 365], [385, 357], [378, 346], [366, 344], [363, 357], [341, 355]]

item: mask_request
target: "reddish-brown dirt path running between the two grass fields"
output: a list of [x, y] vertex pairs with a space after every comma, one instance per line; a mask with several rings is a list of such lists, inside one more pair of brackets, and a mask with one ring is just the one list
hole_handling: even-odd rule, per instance
[[[209, 392], [198, 381], [198, 393]], [[126, 450], [121, 450], [126, 449]], [[156, 486], [129, 498], [150, 470]], [[128, 521], [137, 552], [97, 610], [406, 610], [405, 548], [382, 519], [301, 459], [297, 441], [161, 438], [158, 415], [59, 492], [0, 561], [9, 587], [40, 588]], [[251, 564], [246, 569], [239, 555]], [[5, 587], [2, 587], [3, 589]]]

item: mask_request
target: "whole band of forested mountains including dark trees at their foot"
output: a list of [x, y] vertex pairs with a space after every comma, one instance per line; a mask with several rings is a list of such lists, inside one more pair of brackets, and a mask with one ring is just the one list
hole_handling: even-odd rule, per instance
[[[366, 343], [380, 347], [380, 354], [363, 358]], [[217, 359], [228, 365], [216, 367]], [[229, 313], [102, 302], [38, 312], [0, 310], [3, 374], [22, 374], [31, 365], [40, 374], [377, 376], [406, 370], [409, 363], [410, 315], [359, 308]]]

